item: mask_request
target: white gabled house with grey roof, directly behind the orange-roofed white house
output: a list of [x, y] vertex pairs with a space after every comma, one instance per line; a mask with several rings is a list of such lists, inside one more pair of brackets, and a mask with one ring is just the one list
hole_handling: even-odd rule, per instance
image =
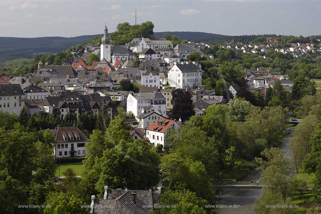
[[136, 116], [136, 120], [139, 123], [138, 127], [143, 129], [146, 129], [150, 124], [159, 119], [165, 119], [165, 117], [153, 106], [143, 107], [141, 113]]

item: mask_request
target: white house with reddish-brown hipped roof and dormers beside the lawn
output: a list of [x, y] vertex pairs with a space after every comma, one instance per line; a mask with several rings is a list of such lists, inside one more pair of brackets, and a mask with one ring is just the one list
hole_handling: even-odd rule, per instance
[[57, 125], [53, 132], [56, 136], [55, 157], [79, 157], [85, 156], [85, 143], [89, 139], [76, 127], [61, 127]]

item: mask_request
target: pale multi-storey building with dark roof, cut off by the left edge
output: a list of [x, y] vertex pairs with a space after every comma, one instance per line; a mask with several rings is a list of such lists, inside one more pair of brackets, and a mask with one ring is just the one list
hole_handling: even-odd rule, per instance
[[20, 84], [0, 84], [0, 111], [19, 115], [24, 100], [25, 94]]

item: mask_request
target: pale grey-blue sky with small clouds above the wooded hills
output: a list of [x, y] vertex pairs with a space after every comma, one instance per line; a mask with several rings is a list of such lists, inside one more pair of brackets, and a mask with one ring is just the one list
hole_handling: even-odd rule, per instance
[[0, 0], [0, 37], [102, 34], [152, 21], [154, 32], [320, 35], [321, 0]]

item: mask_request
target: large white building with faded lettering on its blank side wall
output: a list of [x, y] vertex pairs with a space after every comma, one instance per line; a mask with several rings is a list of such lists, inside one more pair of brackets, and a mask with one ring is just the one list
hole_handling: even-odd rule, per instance
[[166, 115], [166, 99], [161, 93], [129, 93], [127, 97], [127, 112], [133, 112], [135, 117], [143, 107], [153, 106]]

